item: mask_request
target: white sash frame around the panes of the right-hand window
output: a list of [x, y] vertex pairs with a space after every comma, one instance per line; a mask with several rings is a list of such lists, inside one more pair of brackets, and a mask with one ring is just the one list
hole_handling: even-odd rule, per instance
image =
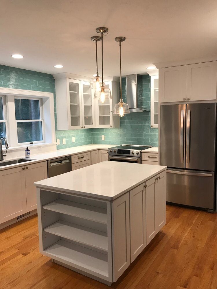
[[39, 113], [40, 113], [40, 119], [16, 119], [15, 116], [15, 122], [16, 122], [16, 145], [24, 145], [24, 144], [30, 144], [30, 142], [18, 142], [18, 132], [17, 132], [17, 123], [20, 122], [41, 122], [42, 123], [42, 140], [38, 141], [32, 141], [34, 144], [37, 143], [43, 143], [45, 142], [45, 129], [44, 129], [44, 117], [43, 117], [43, 101], [41, 98], [36, 98], [36, 97], [24, 97], [24, 96], [14, 96], [14, 111], [15, 111], [15, 99], [33, 99], [33, 100], [38, 100], [39, 101]]

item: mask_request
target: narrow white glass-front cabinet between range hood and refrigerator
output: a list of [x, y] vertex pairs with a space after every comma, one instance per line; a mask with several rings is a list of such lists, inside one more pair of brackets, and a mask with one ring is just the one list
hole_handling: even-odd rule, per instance
[[151, 76], [151, 127], [158, 127], [158, 75]]

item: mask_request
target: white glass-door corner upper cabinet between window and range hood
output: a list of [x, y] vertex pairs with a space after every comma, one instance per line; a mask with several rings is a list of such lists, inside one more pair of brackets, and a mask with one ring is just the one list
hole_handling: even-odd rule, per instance
[[101, 103], [93, 99], [88, 81], [63, 77], [63, 74], [59, 77], [55, 77], [57, 129], [120, 126], [119, 116], [112, 112], [114, 105], [119, 102], [118, 82], [106, 81], [106, 86], [111, 89], [112, 99]]

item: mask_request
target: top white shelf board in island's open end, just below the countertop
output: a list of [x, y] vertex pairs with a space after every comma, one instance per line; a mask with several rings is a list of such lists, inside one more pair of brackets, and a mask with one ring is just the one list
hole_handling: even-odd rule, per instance
[[107, 211], [103, 208], [58, 199], [44, 205], [43, 209], [107, 224]]

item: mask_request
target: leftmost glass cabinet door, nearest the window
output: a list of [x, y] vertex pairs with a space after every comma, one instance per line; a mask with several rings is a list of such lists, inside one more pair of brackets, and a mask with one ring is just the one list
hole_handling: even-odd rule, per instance
[[81, 93], [80, 81], [68, 79], [67, 85], [69, 88], [69, 125], [72, 127], [81, 127]]

